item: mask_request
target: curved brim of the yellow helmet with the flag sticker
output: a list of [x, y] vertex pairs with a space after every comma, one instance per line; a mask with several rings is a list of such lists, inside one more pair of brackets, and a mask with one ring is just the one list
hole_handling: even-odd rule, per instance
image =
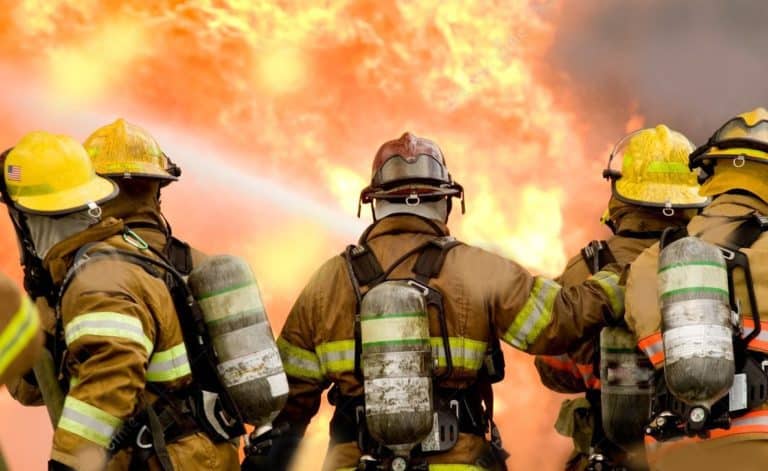
[[118, 191], [114, 182], [96, 176], [83, 185], [64, 191], [20, 196], [14, 199], [14, 205], [25, 213], [60, 216], [87, 209], [90, 203], [109, 201], [117, 196]]

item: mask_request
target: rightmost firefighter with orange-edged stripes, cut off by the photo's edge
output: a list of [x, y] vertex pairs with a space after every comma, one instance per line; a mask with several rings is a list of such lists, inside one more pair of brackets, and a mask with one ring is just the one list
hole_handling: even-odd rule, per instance
[[[654, 470], [768, 468], [766, 164], [768, 111], [757, 108], [728, 120], [689, 159], [690, 167], [701, 172], [700, 194], [712, 202], [684, 233], [665, 235], [662, 258], [660, 246], [654, 245], [632, 264], [626, 322], [658, 370], [646, 431]], [[675, 251], [681, 246], [698, 248]], [[683, 261], [707, 253], [710, 261]], [[668, 311], [670, 301], [680, 300], [681, 294], [685, 299], [675, 309], [682, 309]], [[727, 327], [694, 323], [670, 330], [680, 313], [688, 320], [713, 315], [717, 299], [724, 303]], [[696, 309], [687, 310], [694, 305]], [[680, 370], [677, 362], [688, 366]], [[725, 387], [705, 408], [679, 387], [695, 378], [694, 383], [708, 388], [723, 376], [730, 390]], [[695, 384], [689, 386], [695, 390]]]

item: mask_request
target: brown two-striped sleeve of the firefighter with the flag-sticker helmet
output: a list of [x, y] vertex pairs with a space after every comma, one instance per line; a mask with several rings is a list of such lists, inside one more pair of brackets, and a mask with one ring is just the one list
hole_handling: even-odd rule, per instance
[[[149, 283], [162, 283], [120, 260], [87, 264], [62, 298], [70, 390], [54, 432], [51, 458], [77, 468], [104, 455], [123, 421], [140, 407], [155, 317]], [[90, 458], [92, 459], [92, 458]]]

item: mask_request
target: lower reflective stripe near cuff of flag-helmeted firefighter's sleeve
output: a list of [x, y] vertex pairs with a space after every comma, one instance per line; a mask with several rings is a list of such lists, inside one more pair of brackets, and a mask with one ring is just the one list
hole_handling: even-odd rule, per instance
[[72, 396], [64, 400], [58, 428], [107, 447], [123, 421]]

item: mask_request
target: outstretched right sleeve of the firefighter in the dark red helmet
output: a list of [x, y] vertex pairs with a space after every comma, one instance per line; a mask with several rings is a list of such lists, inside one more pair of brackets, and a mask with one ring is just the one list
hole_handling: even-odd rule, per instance
[[515, 262], [487, 254], [489, 308], [500, 338], [528, 353], [559, 355], [597, 334], [607, 319], [624, 314], [624, 287], [618, 266], [563, 287], [533, 276]]

